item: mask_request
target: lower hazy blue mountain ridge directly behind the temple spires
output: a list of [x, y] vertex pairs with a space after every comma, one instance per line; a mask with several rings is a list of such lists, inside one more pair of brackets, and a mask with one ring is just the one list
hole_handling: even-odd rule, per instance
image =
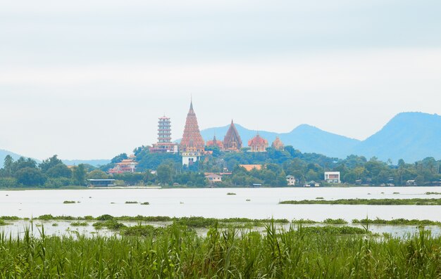
[[[222, 141], [229, 126], [230, 125], [204, 129], [201, 131], [201, 135], [205, 141], [209, 141], [213, 138], [213, 135], [216, 134], [216, 138]], [[257, 131], [244, 128], [244, 126], [240, 124], [235, 124], [235, 126], [242, 138], [243, 146], [247, 146], [248, 140], [256, 136]], [[278, 134], [270, 131], [259, 131], [259, 134], [268, 140], [269, 145], [271, 145], [275, 137], [278, 136], [285, 145], [292, 145], [302, 152], [321, 153], [330, 157], [340, 158], [346, 157], [348, 150], [351, 150], [360, 143], [360, 141], [356, 139], [332, 134], [306, 124], [298, 126], [289, 133]]]

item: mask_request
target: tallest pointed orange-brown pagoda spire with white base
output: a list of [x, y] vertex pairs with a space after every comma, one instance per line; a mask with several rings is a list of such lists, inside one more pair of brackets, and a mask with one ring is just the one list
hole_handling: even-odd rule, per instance
[[197, 117], [193, 110], [193, 102], [190, 102], [190, 110], [185, 120], [184, 134], [179, 146], [182, 155], [182, 165], [187, 164], [190, 166], [194, 162], [201, 160], [205, 152], [205, 141], [199, 131]]

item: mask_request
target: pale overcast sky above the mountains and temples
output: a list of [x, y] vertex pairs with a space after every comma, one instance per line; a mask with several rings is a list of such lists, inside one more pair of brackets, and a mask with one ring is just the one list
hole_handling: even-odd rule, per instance
[[231, 119], [364, 140], [441, 114], [441, 1], [0, 0], [0, 149], [110, 159]]

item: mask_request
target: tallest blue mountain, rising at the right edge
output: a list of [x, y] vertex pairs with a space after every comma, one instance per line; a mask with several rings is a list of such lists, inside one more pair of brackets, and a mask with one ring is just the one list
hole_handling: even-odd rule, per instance
[[402, 112], [383, 129], [356, 145], [352, 152], [380, 160], [416, 162], [426, 157], [441, 159], [441, 116]]

